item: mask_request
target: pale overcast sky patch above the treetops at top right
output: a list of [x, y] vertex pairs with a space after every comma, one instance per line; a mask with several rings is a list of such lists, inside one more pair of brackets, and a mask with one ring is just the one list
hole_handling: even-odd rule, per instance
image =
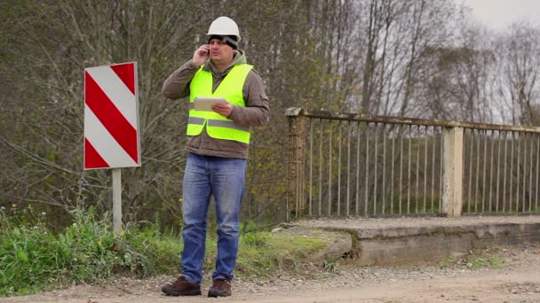
[[485, 26], [503, 29], [518, 19], [540, 26], [540, 0], [457, 0], [473, 8], [473, 16]]

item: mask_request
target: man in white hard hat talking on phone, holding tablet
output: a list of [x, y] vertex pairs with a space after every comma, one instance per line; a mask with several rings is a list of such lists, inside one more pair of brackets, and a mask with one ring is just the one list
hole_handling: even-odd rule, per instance
[[[182, 192], [182, 276], [162, 291], [171, 296], [201, 294], [210, 196], [216, 203], [218, 255], [209, 297], [231, 295], [238, 252], [238, 223], [250, 144], [250, 127], [265, 124], [269, 105], [253, 66], [238, 50], [240, 34], [233, 19], [215, 19], [208, 44], [163, 83], [171, 99], [189, 96], [187, 164]], [[211, 111], [195, 110], [195, 97], [224, 97]], [[198, 107], [197, 107], [198, 108]]]

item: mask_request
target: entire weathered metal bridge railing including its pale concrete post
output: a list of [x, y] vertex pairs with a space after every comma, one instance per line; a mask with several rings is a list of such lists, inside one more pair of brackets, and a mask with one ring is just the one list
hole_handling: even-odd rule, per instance
[[290, 108], [288, 214], [538, 211], [540, 128]]

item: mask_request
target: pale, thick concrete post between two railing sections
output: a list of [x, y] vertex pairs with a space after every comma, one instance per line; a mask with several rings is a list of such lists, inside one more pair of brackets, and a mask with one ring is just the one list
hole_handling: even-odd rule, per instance
[[444, 128], [442, 213], [459, 217], [463, 206], [463, 128]]

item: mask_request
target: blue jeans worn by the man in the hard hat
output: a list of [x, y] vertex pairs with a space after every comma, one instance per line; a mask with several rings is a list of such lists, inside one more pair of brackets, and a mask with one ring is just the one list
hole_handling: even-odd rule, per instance
[[215, 279], [233, 279], [238, 253], [238, 222], [246, 175], [246, 159], [200, 156], [189, 153], [184, 173], [182, 214], [182, 274], [201, 284], [206, 248], [206, 215], [210, 196], [218, 217], [218, 256]]

